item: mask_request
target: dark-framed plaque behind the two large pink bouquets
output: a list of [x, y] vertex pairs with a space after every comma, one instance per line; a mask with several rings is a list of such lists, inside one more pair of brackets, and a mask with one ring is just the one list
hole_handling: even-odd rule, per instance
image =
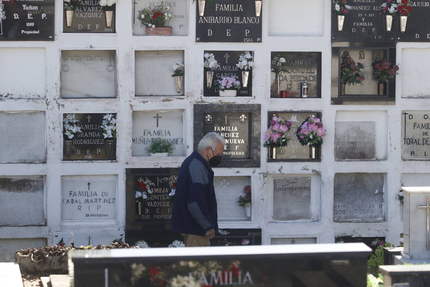
[[321, 146], [316, 147], [315, 158], [310, 157], [310, 147], [301, 145], [297, 138], [297, 130], [309, 116], [315, 116], [322, 120], [321, 112], [318, 111], [269, 111], [267, 118], [272, 118], [272, 115], [283, 117], [285, 120], [292, 123], [289, 131], [291, 132], [291, 140], [286, 146], [279, 148], [267, 148], [267, 161], [320, 161]]

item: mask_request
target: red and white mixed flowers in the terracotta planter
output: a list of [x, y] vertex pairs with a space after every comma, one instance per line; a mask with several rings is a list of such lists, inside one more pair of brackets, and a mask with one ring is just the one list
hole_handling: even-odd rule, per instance
[[169, 6], [164, 5], [164, 1], [152, 8], [148, 5], [147, 8], [139, 10], [138, 13], [137, 19], [151, 30], [156, 27], [168, 27], [170, 19], [173, 17], [172, 13], [169, 12]]

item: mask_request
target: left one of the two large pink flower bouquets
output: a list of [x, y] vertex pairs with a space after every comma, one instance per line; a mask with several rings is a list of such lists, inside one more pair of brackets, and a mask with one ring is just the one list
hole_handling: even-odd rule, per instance
[[290, 127], [290, 121], [286, 121], [283, 117], [273, 115], [270, 120], [270, 127], [264, 134], [263, 146], [265, 148], [279, 148], [281, 146], [286, 146], [290, 140]]

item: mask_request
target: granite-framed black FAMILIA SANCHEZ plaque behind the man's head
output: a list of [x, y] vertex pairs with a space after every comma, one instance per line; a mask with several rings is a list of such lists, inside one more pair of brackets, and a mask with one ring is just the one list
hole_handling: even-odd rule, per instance
[[218, 167], [260, 167], [261, 105], [194, 105], [194, 148], [206, 133], [226, 140]]

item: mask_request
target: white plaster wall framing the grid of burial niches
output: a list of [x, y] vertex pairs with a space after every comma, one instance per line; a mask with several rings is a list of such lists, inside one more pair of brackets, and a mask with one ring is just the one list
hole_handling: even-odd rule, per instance
[[[312, 25], [323, 27], [322, 36], [273, 37], [269, 34], [269, 5], [272, 0], [263, 1], [262, 8], [262, 43], [196, 43], [195, 9], [196, 3], [189, 2], [188, 36], [155, 37], [132, 35], [132, 1], [117, 3], [116, 34], [63, 34], [62, 5], [55, 6], [55, 41], [43, 42], [0, 42], [6, 48], [43, 48], [46, 49], [46, 99], [0, 99], [1, 111], [45, 111], [47, 121], [47, 160], [45, 164], [1, 164], [0, 176], [46, 176], [47, 188], [47, 226], [42, 227], [0, 227], [0, 238], [48, 238], [52, 244], [54, 231], [116, 231], [125, 228], [125, 169], [151, 167], [179, 167], [184, 157], [166, 157], [159, 162], [151, 157], [131, 156], [132, 111], [147, 110], [184, 110], [184, 138], [186, 155], [192, 152], [193, 109], [196, 103], [238, 103], [261, 104], [261, 139], [267, 123], [267, 111], [322, 111], [322, 120], [327, 129], [327, 136], [322, 145], [321, 162], [270, 162], [267, 163], [267, 148], [261, 145], [260, 168], [218, 168], [215, 176], [250, 176], [252, 182], [252, 219], [243, 222], [222, 222], [221, 228], [262, 228], [263, 244], [270, 244], [270, 237], [294, 238], [314, 237], [318, 243], [333, 243], [335, 235], [356, 235], [365, 237], [387, 236], [387, 241], [398, 244], [402, 233], [399, 204], [395, 198], [402, 173], [422, 173], [429, 170], [428, 161], [401, 160], [401, 112], [402, 110], [430, 109], [427, 99], [405, 99], [406, 90], [402, 87], [411, 80], [408, 74], [400, 74], [396, 81], [396, 105], [331, 105], [331, 43], [330, 12], [331, 1], [322, 3], [320, 18], [309, 19]], [[275, 1], [276, 2], [276, 1]], [[289, 1], [291, 2], [291, 1]], [[291, 13], [287, 13], [291, 14]], [[282, 25], [283, 19], [279, 19]], [[430, 49], [430, 43], [398, 43], [396, 63], [405, 71], [416, 62], [406, 62], [408, 55], [402, 49]], [[60, 98], [60, 50], [61, 49], [113, 49], [117, 51], [118, 97], [117, 99], [61, 99]], [[134, 57], [136, 50], [184, 50], [185, 74], [184, 96], [164, 98], [135, 97], [134, 93]], [[253, 96], [250, 98], [220, 99], [203, 97], [204, 50], [252, 50], [255, 51], [256, 68], [253, 71]], [[319, 51], [322, 52], [322, 98], [321, 99], [270, 99], [270, 51]], [[412, 51], [412, 50], [411, 50]], [[427, 55], [427, 54], [426, 54]], [[404, 58], [405, 59], [402, 59]], [[39, 72], [34, 68], [34, 72]], [[0, 78], [4, 77], [4, 72]], [[427, 80], [428, 72], [420, 74], [420, 82]], [[418, 82], [417, 82], [418, 83]], [[426, 85], [420, 88], [427, 92]], [[379, 114], [376, 120], [386, 122], [387, 160], [335, 162], [334, 131], [335, 117], [338, 111]], [[62, 162], [61, 115], [69, 112], [80, 113], [118, 113], [117, 128], [121, 136], [117, 139], [117, 162]], [[348, 119], [352, 120], [352, 119]], [[385, 173], [387, 175], [387, 213], [386, 222], [378, 223], [342, 223], [333, 222], [333, 179], [335, 173]], [[321, 210], [318, 222], [268, 222], [270, 215], [267, 191], [267, 175], [300, 174], [317, 175], [321, 190]], [[64, 226], [61, 223], [60, 201], [61, 176], [73, 175], [118, 175], [119, 207], [117, 222]]]

